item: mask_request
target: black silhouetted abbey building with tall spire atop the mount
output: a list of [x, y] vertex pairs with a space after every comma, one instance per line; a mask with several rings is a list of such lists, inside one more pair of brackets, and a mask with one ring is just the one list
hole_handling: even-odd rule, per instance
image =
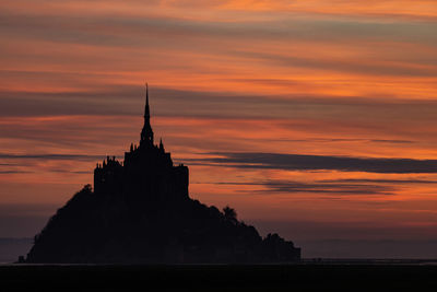
[[126, 196], [141, 201], [180, 200], [188, 198], [188, 167], [174, 166], [170, 153], [163, 141], [154, 144], [150, 122], [149, 89], [144, 109], [144, 126], [140, 145], [131, 144], [125, 152], [125, 163], [107, 156], [94, 170], [94, 192], [97, 195]]

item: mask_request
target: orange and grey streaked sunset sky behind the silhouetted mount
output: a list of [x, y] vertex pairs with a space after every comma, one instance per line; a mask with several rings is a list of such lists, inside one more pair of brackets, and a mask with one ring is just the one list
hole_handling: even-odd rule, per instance
[[304, 256], [437, 256], [435, 0], [0, 4], [0, 237], [32, 237], [139, 141], [147, 81], [192, 198]]

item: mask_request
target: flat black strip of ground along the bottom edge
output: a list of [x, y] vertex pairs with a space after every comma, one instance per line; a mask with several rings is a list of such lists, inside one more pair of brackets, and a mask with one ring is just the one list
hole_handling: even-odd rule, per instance
[[0, 291], [437, 291], [437, 266], [2, 266]]

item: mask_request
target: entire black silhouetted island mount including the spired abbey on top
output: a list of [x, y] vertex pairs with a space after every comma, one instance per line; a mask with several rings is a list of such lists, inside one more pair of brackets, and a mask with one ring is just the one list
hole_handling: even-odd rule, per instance
[[139, 145], [107, 157], [35, 236], [27, 262], [287, 262], [300, 248], [188, 195], [188, 167], [154, 144], [149, 91]]

